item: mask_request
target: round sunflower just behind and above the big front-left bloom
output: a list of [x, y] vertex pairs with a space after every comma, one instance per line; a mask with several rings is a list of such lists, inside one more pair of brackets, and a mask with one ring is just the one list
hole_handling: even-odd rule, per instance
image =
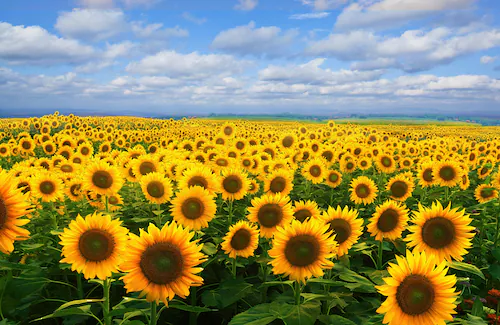
[[208, 227], [208, 222], [215, 217], [216, 211], [213, 196], [200, 186], [184, 188], [172, 200], [172, 217], [189, 229]]

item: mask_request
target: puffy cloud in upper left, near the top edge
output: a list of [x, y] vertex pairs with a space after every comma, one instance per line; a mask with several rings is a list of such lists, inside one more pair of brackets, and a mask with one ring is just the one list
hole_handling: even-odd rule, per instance
[[99, 41], [128, 29], [121, 10], [73, 9], [57, 17], [55, 28], [64, 36]]

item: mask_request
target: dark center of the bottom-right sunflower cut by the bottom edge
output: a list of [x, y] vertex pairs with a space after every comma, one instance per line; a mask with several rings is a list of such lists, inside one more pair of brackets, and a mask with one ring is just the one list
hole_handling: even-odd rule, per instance
[[435, 292], [432, 283], [422, 275], [407, 276], [396, 291], [396, 301], [407, 315], [421, 315], [434, 304]]

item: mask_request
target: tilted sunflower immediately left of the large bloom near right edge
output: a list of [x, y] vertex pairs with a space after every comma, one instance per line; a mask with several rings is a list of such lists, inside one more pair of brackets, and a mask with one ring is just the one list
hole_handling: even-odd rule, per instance
[[366, 227], [376, 240], [396, 240], [408, 224], [408, 209], [397, 201], [387, 200], [375, 208]]

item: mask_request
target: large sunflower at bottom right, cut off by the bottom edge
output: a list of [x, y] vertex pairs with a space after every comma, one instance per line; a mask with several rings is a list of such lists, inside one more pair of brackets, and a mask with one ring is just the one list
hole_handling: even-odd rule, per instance
[[446, 263], [425, 252], [406, 251], [406, 258], [396, 256], [397, 264], [389, 263], [391, 275], [377, 290], [387, 299], [377, 309], [385, 314], [383, 323], [396, 325], [445, 324], [456, 312], [457, 278], [446, 275]]

